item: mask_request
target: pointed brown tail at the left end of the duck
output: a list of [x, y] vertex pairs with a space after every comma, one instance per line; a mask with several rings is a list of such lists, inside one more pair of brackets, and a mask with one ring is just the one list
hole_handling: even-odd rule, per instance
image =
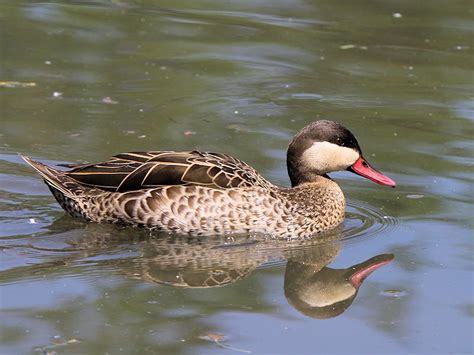
[[74, 179], [66, 176], [60, 170], [51, 168], [24, 155], [20, 156], [43, 177], [45, 183], [51, 189], [57, 190], [72, 199], [77, 197], [77, 190], [80, 188], [80, 185]]

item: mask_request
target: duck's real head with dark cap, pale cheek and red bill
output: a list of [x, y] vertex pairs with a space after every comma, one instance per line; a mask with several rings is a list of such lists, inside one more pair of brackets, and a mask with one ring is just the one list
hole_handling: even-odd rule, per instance
[[287, 165], [292, 186], [339, 170], [351, 171], [381, 185], [396, 185], [367, 162], [354, 135], [334, 121], [316, 121], [299, 131], [288, 147]]

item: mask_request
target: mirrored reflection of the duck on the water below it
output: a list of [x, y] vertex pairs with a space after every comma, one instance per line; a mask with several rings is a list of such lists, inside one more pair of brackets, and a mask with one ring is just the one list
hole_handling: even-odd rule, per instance
[[[76, 247], [103, 253], [111, 243], [116, 245], [117, 239], [89, 235]], [[382, 254], [345, 269], [327, 267], [341, 249], [337, 233], [304, 241], [165, 235], [147, 237], [132, 245], [132, 257], [114, 257], [106, 263], [130, 277], [180, 288], [223, 287], [262, 265], [286, 260], [284, 291], [289, 304], [306, 316], [320, 319], [343, 313], [367, 276], [394, 258]]]

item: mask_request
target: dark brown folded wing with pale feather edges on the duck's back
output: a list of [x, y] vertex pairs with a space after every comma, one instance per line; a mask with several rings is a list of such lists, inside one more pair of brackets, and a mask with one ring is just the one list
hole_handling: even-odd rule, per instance
[[199, 151], [123, 153], [102, 163], [73, 166], [65, 174], [83, 185], [116, 192], [170, 185], [216, 189], [272, 186], [255, 169], [236, 158]]

